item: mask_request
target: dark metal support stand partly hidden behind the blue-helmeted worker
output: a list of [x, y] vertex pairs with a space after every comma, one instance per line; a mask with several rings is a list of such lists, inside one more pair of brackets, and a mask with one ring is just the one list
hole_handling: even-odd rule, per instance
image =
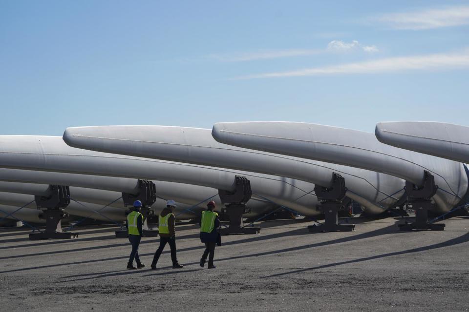
[[[148, 227], [148, 218], [154, 215], [154, 211], [151, 210], [151, 205], [156, 201], [156, 185], [152, 181], [138, 180], [138, 192], [137, 194], [122, 193], [122, 200], [124, 205], [133, 206], [135, 200], [142, 202], [143, 215], [143, 237], [156, 237], [158, 236], [158, 230], [153, 230]], [[126, 212], [128, 215], [130, 211]], [[125, 229], [116, 231], [116, 238], [127, 238], [128, 230], [127, 226]]]

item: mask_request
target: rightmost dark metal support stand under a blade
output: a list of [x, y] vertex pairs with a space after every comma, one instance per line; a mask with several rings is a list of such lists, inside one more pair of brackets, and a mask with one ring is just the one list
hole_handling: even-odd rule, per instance
[[412, 182], [405, 182], [405, 193], [407, 202], [412, 204], [415, 211], [415, 222], [407, 224], [399, 224], [401, 231], [427, 230], [427, 231], [444, 231], [445, 224], [430, 223], [428, 220], [428, 211], [434, 208], [431, 203], [431, 197], [435, 195], [438, 186], [435, 185], [435, 177], [428, 171], [424, 171], [424, 184], [417, 187]]

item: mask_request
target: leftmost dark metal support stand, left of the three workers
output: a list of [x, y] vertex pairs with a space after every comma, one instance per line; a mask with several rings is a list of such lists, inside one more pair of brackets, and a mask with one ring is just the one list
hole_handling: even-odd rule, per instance
[[62, 231], [61, 219], [68, 214], [64, 208], [70, 203], [70, 188], [64, 185], [49, 185], [49, 196], [34, 196], [36, 206], [42, 209], [40, 218], [45, 219], [45, 231], [29, 234], [30, 240], [68, 239], [78, 237], [78, 233]]

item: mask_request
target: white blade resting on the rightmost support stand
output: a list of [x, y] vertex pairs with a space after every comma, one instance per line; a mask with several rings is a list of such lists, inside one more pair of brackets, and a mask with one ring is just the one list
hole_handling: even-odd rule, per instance
[[[424, 170], [440, 187], [433, 197], [441, 211], [460, 203], [468, 191], [461, 163], [380, 143], [373, 134], [299, 122], [230, 122], [213, 126], [213, 137], [235, 146], [307, 157], [386, 173], [420, 184]], [[346, 185], [350, 181], [345, 178]]]

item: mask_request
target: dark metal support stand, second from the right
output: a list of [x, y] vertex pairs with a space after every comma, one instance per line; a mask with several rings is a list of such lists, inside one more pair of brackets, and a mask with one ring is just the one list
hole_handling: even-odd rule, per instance
[[345, 179], [337, 174], [332, 174], [332, 186], [325, 188], [320, 185], [314, 187], [314, 192], [320, 201], [318, 211], [324, 214], [324, 224], [310, 225], [308, 230], [311, 233], [318, 232], [350, 232], [355, 230], [355, 224], [339, 224], [337, 213], [345, 210], [343, 199], [347, 188], [345, 187]]

